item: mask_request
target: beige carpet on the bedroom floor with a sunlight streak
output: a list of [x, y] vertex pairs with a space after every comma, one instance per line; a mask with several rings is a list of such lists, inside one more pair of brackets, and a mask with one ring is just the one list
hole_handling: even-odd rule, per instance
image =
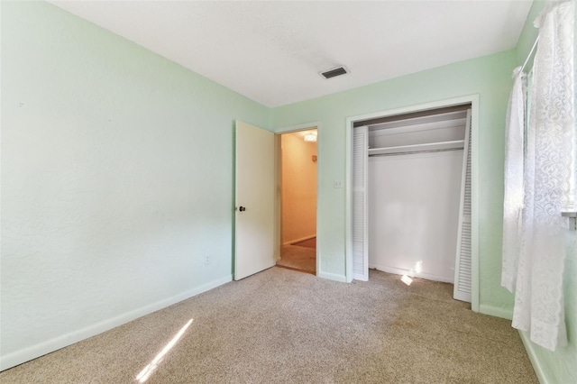
[[2, 383], [536, 383], [517, 331], [450, 284], [271, 268], [0, 373]]

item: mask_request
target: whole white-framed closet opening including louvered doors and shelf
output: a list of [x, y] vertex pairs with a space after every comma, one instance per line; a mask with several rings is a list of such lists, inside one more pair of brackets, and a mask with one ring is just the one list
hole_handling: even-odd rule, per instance
[[347, 119], [347, 280], [376, 269], [453, 283], [478, 310], [477, 99]]

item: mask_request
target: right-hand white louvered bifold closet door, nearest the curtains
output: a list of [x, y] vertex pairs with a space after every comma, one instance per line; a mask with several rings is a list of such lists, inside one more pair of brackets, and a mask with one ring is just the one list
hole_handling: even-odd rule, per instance
[[457, 234], [457, 256], [454, 263], [453, 297], [471, 303], [471, 109], [467, 111], [465, 145], [463, 150], [463, 178], [461, 206], [459, 208], [459, 233]]

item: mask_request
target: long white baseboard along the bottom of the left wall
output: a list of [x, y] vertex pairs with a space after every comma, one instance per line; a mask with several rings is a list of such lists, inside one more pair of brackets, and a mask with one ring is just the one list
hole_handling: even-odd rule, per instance
[[176, 304], [179, 301], [186, 300], [189, 297], [197, 296], [198, 294], [222, 286], [223, 284], [226, 284], [232, 280], [232, 275], [222, 279], [216, 279], [200, 287], [182, 292], [179, 295], [160, 300], [148, 306], [142, 306], [130, 312], [126, 312], [123, 315], [118, 315], [96, 323], [95, 325], [89, 325], [86, 328], [79, 329], [78, 331], [73, 331], [69, 334], [63, 334], [46, 342], [38, 343], [16, 352], [8, 353], [0, 357], [0, 370], [7, 370], [8, 368], [22, 364], [23, 362], [31, 361], [32, 359], [36, 359], [37, 357], [47, 353], [60, 350], [60, 348], [67, 347], [70, 344], [78, 343], [79, 341], [87, 339], [88, 337], [95, 336], [96, 334], [102, 334], [103, 332], [113, 329], [116, 326], [124, 325], [138, 317], [151, 314], [152, 312]]

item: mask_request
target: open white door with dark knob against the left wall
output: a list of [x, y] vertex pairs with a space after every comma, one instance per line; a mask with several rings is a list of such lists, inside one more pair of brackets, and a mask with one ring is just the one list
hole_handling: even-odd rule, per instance
[[234, 279], [274, 260], [274, 133], [236, 121]]

